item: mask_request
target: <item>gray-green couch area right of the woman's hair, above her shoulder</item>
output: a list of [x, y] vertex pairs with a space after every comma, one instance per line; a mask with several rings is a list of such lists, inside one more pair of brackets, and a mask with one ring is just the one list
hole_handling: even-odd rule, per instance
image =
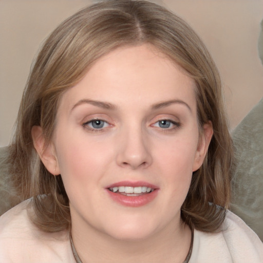
[[231, 210], [263, 241], [263, 99], [235, 128], [233, 140]]

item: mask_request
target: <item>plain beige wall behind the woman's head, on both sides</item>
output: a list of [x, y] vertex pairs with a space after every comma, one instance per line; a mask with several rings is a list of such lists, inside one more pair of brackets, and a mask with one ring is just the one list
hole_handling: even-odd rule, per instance
[[[0, 146], [7, 145], [30, 64], [64, 18], [92, 1], [0, 0]], [[263, 0], [163, 0], [210, 49], [224, 80], [231, 128], [263, 96], [257, 40]]]

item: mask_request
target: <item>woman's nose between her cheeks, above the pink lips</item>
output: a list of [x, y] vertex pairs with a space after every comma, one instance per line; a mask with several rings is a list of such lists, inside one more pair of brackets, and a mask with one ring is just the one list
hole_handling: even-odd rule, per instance
[[118, 138], [118, 145], [118, 165], [135, 170], [152, 164], [151, 143], [149, 143], [146, 132], [143, 133], [141, 128], [123, 131]]

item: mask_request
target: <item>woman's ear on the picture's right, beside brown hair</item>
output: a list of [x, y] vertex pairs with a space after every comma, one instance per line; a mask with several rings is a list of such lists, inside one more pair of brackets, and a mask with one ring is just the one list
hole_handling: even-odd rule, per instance
[[213, 125], [209, 121], [203, 125], [202, 133], [199, 135], [199, 141], [196, 149], [195, 160], [193, 163], [193, 172], [197, 171], [205, 158], [206, 153], [208, 152], [208, 147], [213, 136]]

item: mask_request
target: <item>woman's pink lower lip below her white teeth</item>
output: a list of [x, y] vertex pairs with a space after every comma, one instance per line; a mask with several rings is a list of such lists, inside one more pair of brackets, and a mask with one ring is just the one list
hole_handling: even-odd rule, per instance
[[155, 189], [153, 192], [139, 195], [139, 196], [126, 196], [118, 193], [114, 193], [106, 189], [109, 196], [117, 203], [125, 206], [138, 207], [152, 202], [158, 194], [158, 190]]

